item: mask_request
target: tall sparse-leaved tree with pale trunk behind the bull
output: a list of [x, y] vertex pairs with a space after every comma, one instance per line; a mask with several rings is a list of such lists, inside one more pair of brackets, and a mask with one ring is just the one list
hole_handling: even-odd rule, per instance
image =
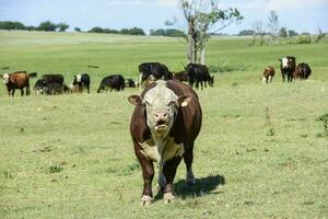
[[180, 7], [188, 24], [187, 58], [194, 64], [206, 62], [206, 44], [210, 27], [216, 27], [212, 33], [220, 32], [243, 19], [237, 9], [219, 9], [218, 0], [180, 0]]

